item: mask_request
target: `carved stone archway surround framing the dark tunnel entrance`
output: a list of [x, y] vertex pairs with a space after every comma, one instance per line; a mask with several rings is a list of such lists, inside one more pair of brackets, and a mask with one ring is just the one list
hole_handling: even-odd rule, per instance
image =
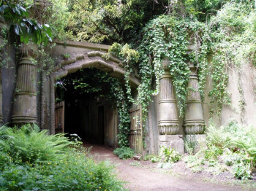
[[[42, 79], [42, 81], [48, 81], [48, 87], [50, 87], [50, 133], [55, 133], [55, 82], [56, 79], [67, 76], [67, 74], [75, 73], [80, 69], [86, 69], [89, 67], [94, 67], [101, 71], [106, 71], [110, 77], [115, 77], [120, 80], [124, 80], [125, 71], [122, 68], [123, 64], [117, 58], [112, 56], [106, 60], [103, 58], [106, 52], [108, 52], [109, 46], [102, 44], [91, 44], [83, 42], [68, 42], [64, 44], [62, 42], [56, 42], [55, 54], [59, 58], [58, 67], [55, 71], [50, 74], [48, 79]], [[70, 58], [64, 60], [61, 58], [61, 54], [69, 54]], [[140, 85], [140, 79], [137, 73], [131, 74], [129, 76], [129, 82], [132, 88], [138, 87]], [[45, 125], [45, 112], [44, 107], [45, 100], [43, 99], [45, 94], [45, 89], [42, 87], [42, 99], [41, 99], [41, 126]]]

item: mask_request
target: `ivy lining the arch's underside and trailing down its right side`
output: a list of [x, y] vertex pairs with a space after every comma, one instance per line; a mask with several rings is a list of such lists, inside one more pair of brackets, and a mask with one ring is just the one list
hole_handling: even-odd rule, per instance
[[129, 109], [124, 85], [118, 79], [110, 77], [107, 72], [94, 68], [83, 69], [75, 74], [68, 75], [56, 82], [56, 97], [58, 101], [64, 99], [65, 92], [83, 96], [85, 93], [104, 97], [106, 101], [118, 109], [118, 146], [129, 147]]

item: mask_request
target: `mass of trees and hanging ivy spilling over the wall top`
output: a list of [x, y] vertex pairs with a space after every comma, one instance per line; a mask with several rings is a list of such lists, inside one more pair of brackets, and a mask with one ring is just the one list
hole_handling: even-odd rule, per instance
[[[8, 6], [7, 2], [12, 6]], [[27, 10], [15, 4], [17, 2], [27, 9], [33, 4], [29, 0], [1, 1], [1, 15], [6, 17], [7, 22], [13, 24], [16, 34], [19, 32], [18, 34], [21, 35], [21, 40], [27, 42], [28, 35], [20, 33], [23, 31], [22, 27], [37, 26], [38, 23], [34, 23], [28, 17]], [[138, 88], [137, 104], [142, 105], [143, 120], [146, 119], [151, 95], [157, 95], [159, 91], [159, 78], [163, 72], [162, 61], [165, 58], [170, 60], [170, 74], [176, 87], [180, 116], [184, 114], [187, 96], [188, 63], [194, 63], [197, 67], [202, 97], [206, 75], [211, 75], [213, 88], [208, 95], [211, 97], [211, 113], [217, 114], [220, 114], [223, 105], [230, 104], [227, 71], [238, 71], [243, 64], [255, 65], [255, 1], [48, 0], [46, 2], [44, 9], [41, 10], [42, 17], [40, 15], [34, 18], [42, 23], [49, 22], [53, 27], [53, 36], [58, 36], [59, 33], [79, 41], [113, 44], [110, 52], [121, 59], [127, 71], [126, 90], [122, 88], [124, 93], [120, 96], [128, 98], [129, 103], [132, 103], [133, 99], [128, 77], [134, 69], [138, 69], [142, 84]], [[13, 10], [17, 17], [13, 16]], [[34, 24], [29, 26], [29, 20]], [[39, 26], [37, 28], [41, 27]], [[32, 34], [33, 30], [28, 32]], [[48, 33], [45, 34], [46, 37], [47, 35], [50, 37]], [[39, 40], [38, 42], [45, 41], [38, 36], [34, 39]], [[188, 44], [195, 44], [189, 54], [187, 54]], [[208, 60], [211, 61], [211, 66]], [[244, 90], [242, 90], [240, 73], [238, 92], [241, 99], [238, 113], [241, 114], [244, 111]], [[129, 111], [129, 104], [119, 107]], [[128, 114], [126, 116], [128, 117]]]

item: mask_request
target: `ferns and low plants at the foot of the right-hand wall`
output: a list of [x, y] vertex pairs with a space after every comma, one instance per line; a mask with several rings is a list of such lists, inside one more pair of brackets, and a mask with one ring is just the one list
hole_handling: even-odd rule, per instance
[[193, 172], [209, 171], [220, 174], [230, 171], [237, 179], [251, 179], [256, 166], [256, 129], [237, 122], [208, 128], [206, 144], [195, 155], [184, 158]]

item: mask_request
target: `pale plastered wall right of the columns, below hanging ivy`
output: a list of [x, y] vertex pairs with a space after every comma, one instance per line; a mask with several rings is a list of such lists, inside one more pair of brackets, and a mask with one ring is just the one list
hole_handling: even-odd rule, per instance
[[[256, 124], [256, 70], [250, 64], [241, 66], [241, 70], [230, 69], [228, 72], [227, 91], [230, 95], [230, 106], [223, 106], [222, 112], [210, 114], [211, 99], [208, 92], [211, 90], [211, 77], [207, 77], [203, 114], [206, 126], [212, 118], [217, 125], [227, 125], [236, 120], [239, 124], [248, 126]], [[239, 91], [240, 90], [240, 91]]]

